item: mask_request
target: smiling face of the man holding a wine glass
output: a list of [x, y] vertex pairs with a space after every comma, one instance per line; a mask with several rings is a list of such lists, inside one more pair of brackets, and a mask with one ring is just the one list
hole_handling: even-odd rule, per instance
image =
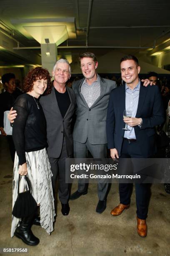
[[138, 82], [138, 74], [140, 72], [140, 67], [137, 66], [136, 62], [132, 59], [122, 61], [120, 63], [121, 76], [123, 81], [130, 87], [135, 87]]

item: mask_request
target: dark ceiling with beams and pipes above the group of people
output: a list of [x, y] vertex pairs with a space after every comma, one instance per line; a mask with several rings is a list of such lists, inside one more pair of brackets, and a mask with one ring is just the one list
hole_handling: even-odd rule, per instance
[[[69, 18], [74, 21], [66, 24], [68, 39], [61, 41], [58, 55], [71, 55], [72, 61], [77, 61], [86, 49], [100, 56], [112, 48], [140, 54], [170, 39], [169, 0], [0, 0], [0, 31], [8, 37], [11, 34], [15, 39], [13, 47], [17, 47], [17, 41], [20, 47], [40, 47], [39, 37], [34, 36], [36, 30], [29, 33], [28, 21], [41, 20], [43, 26], [50, 21], [56, 26], [54, 20]], [[0, 63], [20, 63], [16, 50], [9, 58], [10, 51], [2, 48]], [[28, 54], [30, 50], [26, 51]], [[40, 49], [32, 49], [31, 53], [40, 56]], [[26, 59], [22, 64], [30, 63]]]

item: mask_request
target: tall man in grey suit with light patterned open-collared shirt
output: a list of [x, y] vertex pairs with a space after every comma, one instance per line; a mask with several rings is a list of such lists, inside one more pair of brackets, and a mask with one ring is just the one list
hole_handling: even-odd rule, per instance
[[[109, 95], [116, 87], [114, 81], [103, 79], [96, 73], [98, 66], [95, 54], [86, 52], [80, 55], [80, 67], [85, 78], [75, 81], [72, 89], [77, 103], [77, 118], [73, 131], [74, 157], [86, 158], [87, 150], [93, 158], [106, 158], [106, 115]], [[99, 202], [97, 213], [106, 208], [108, 183], [98, 183]], [[88, 184], [78, 183], [78, 189], [70, 196], [75, 200], [87, 194]]]

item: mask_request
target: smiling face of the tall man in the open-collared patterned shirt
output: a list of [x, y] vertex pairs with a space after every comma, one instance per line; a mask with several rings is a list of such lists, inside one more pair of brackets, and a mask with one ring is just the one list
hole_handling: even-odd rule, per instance
[[82, 74], [87, 80], [97, 78], [97, 74], [96, 74], [96, 69], [98, 66], [97, 61], [95, 62], [93, 61], [92, 58], [84, 57], [81, 59], [80, 66], [81, 66]]

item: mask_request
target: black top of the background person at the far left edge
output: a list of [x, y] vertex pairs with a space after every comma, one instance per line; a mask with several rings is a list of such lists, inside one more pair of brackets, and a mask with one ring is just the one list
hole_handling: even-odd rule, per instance
[[0, 94], [0, 127], [4, 127], [4, 112], [13, 107], [16, 98], [21, 94], [22, 92], [17, 88], [13, 93], [6, 91]]

